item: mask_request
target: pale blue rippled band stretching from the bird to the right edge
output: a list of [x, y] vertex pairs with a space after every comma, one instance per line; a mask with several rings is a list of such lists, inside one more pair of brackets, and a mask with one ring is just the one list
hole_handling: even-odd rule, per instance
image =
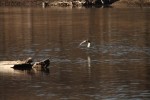
[[91, 48], [91, 52], [109, 54], [116, 57], [128, 54], [145, 54], [150, 56], [150, 47], [126, 46], [118, 44], [96, 45], [94, 48]]

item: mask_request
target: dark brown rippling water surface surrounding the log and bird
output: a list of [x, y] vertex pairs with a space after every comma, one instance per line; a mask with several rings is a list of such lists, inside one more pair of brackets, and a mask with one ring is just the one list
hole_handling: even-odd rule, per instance
[[0, 63], [0, 100], [149, 100], [150, 9], [0, 8]]

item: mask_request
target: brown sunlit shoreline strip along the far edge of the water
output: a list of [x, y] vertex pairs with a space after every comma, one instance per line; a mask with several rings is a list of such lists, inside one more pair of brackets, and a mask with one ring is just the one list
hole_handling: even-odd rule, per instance
[[131, 8], [131, 7], [150, 7], [150, 0], [117, 0], [109, 5], [86, 5], [85, 1], [60, 1], [53, 0], [51, 2], [43, 2], [42, 0], [1, 0], [0, 7], [113, 7], [113, 8]]

